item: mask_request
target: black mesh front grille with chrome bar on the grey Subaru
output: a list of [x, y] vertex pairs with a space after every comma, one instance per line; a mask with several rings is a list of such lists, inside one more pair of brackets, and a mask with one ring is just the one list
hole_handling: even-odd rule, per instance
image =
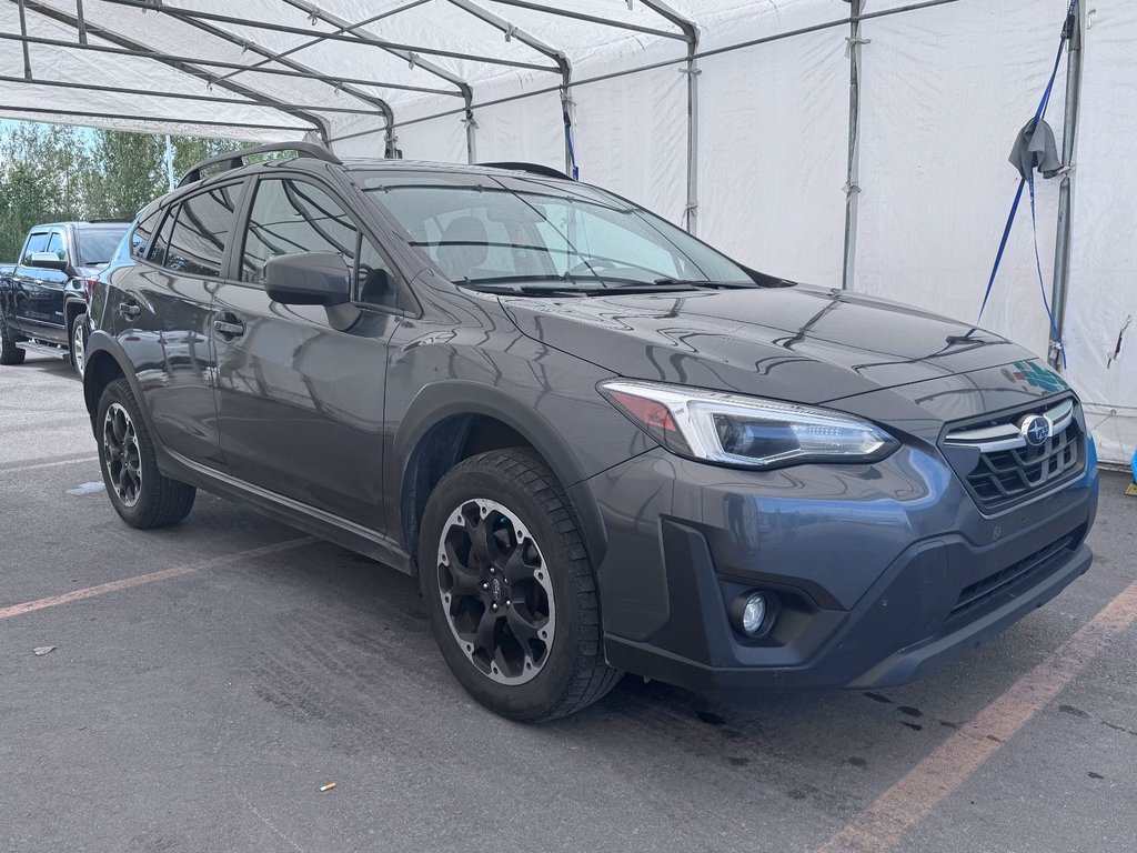
[[[1006, 415], [981, 424], [969, 424], [965, 430], [949, 432], [944, 439], [945, 450], [952, 448], [980, 447], [978, 458], [973, 452], [969, 458], [973, 464], [960, 471], [968, 490], [980, 508], [996, 511], [1024, 500], [1063, 480], [1073, 478], [1085, 463], [1086, 436], [1077, 415], [1077, 403], [1070, 400], [1065, 425], [1038, 447], [1005, 436], [1018, 430], [1015, 426], [1024, 416], [1047, 414], [1056, 409], [1054, 403]], [[1065, 405], [1062, 401], [1059, 406]], [[1069, 406], [1068, 406], [1069, 408]], [[981, 438], [966, 438], [976, 437]], [[1018, 444], [1019, 446], [1007, 446]], [[949, 461], [953, 455], [948, 453]], [[953, 463], [955, 464], [955, 463]]]

